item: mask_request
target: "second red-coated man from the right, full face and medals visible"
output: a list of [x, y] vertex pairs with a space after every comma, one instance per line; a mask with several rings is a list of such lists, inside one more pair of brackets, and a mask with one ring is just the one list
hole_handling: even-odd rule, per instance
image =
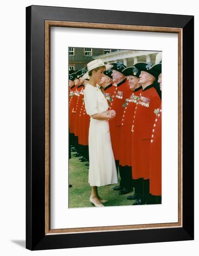
[[161, 100], [156, 89], [153, 87], [158, 73], [153, 70], [151, 63], [139, 62], [134, 65], [141, 70], [139, 83], [142, 92], [133, 114], [132, 122], [132, 175], [133, 179], [142, 179], [143, 192], [134, 203], [145, 204], [149, 197], [149, 162], [151, 133], [153, 130], [154, 109], [159, 108]]

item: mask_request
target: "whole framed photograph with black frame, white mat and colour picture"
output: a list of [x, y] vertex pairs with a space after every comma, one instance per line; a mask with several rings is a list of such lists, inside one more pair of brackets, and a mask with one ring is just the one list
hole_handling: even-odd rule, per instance
[[26, 17], [27, 249], [193, 240], [194, 17], [44, 6]]

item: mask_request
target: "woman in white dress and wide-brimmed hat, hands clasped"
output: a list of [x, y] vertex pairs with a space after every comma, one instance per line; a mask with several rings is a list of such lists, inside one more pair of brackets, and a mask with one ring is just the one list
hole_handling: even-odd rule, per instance
[[90, 115], [89, 126], [89, 175], [88, 182], [91, 186], [90, 202], [95, 206], [104, 206], [98, 195], [98, 187], [118, 183], [115, 160], [111, 146], [111, 137], [108, 120], [115, 117], [114, 110], [108, 110], [108, 103], [99, 88], [103, 72], [112, 65], [105, 65], [101, 59], [87, 64], [89, 76], [84, 92], [86, 113]]

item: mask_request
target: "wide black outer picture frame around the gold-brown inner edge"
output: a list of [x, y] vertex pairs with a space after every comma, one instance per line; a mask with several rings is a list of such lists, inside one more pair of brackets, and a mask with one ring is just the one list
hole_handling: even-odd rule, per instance
[[[182, 31], [182, 227], [46, 234], [45, 21], [70, 21]], [[194, 239], [194, 17], [66, 7], [26, 8], [26, 248], [30, 250]]]

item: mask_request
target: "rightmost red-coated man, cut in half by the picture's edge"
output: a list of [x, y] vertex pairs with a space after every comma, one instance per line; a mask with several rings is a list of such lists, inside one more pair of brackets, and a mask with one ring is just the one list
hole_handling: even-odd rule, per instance
[[[160, 90], [162, 90], [162, 74], [161, 74], [161, 63], [154, 65], [152, 68], [159, 74], [158, 83]], [[151, 146], [150, 146], [150, 176], [149, 176], [149, 188], [150, 196], [149, 203], [158, 204], [161, 203], [162, 195], [162, 108], [154, 109], [154, 124], [151, 135]]]

